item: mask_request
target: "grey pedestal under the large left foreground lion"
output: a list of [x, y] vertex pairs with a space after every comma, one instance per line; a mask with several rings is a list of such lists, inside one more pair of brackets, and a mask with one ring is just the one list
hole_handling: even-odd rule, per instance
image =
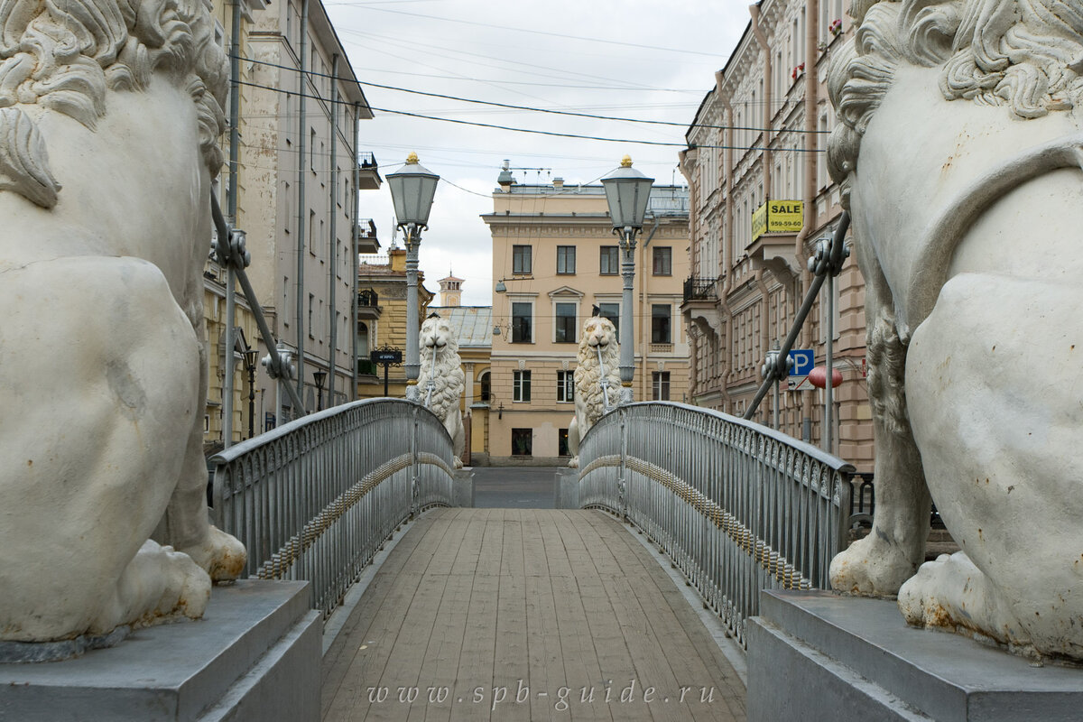
[[319, 613], [304, 581], [216, 587], [204, 619], [133, 631], [76, 659], [0, 665], [0, 719], [319, 719]]

